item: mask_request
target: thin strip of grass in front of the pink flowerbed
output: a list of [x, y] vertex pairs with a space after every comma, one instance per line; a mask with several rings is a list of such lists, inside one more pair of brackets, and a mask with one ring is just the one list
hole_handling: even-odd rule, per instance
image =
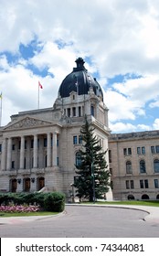
[[58, 212], [52, 212], [52, 211], [37, 211], [37, 212], [13, 212], [13, 213], [7, 213], [7, 212], [0, 212], [0, 218], [4, 217], [26, 217], [26, 216], [48, 216], [48, 215], [56, 215]]

